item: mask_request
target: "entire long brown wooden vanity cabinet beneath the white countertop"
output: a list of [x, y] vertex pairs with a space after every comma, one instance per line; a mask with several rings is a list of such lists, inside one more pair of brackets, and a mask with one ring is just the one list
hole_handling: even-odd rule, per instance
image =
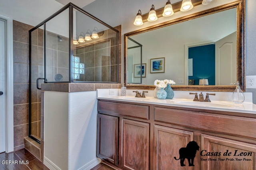
[[[256, 170], [254, 114], [105, 100], [98, 109], [98, 157], [120, 169]], [[174, 157], [190, 141], [200, 147], [194, 166], [181, 166]]]

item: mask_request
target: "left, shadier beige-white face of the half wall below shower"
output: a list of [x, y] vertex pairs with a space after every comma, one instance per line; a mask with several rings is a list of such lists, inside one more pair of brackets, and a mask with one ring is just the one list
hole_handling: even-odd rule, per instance
[[68, 167], [68, 93], [44, 92], [44, 164]]

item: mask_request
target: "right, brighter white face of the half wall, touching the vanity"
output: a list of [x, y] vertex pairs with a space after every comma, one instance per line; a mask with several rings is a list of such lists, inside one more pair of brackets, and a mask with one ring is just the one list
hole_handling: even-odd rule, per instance
[[90, 169], [99, 163], [96, 91], [69, 93], [68, 169]]

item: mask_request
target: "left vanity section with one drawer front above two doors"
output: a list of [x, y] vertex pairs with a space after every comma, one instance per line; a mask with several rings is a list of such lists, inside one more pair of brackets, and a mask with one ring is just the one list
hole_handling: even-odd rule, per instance
[[97, 156], [122, 170], [149, 170], [149, 106], [98, 101]]

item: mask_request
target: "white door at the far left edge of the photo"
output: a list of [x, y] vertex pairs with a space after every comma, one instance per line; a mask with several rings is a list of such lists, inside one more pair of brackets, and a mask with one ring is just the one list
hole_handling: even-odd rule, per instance
[[5, 151], [5, 55], [6, 22], [0, 19], [0, 153]]

